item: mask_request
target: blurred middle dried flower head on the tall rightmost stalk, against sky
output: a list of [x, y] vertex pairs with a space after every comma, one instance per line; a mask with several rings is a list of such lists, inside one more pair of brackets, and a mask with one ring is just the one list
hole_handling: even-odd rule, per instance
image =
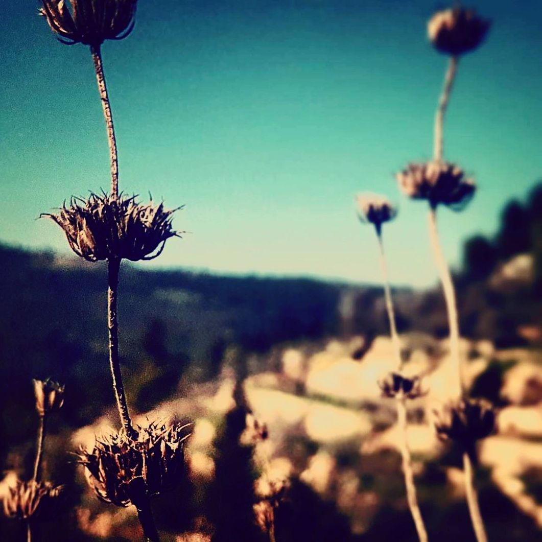
[[433, 208], [442, 203], [454, 211], [464, 209], [476, 190], [473, 180], [467, 179], [459, 166], [436, 160], [409, 164], [396, 179], [412, 199], [427, 199]]

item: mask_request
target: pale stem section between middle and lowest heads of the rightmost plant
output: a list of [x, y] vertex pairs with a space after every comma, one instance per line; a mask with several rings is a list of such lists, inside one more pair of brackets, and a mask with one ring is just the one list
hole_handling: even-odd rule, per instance
[[442, 253], [442, 247], [438, 238], [436, 209], [429, 209], [429, 237], [431, 248], [435, 256], [435, 263], [438, 269], [438, 275], [444, 292], [444, 300], [446, 301], [446, 311], [448, 313], [448, 325], [450, 328], [450, 356], [455, 366], [455, 382], [451, 383], [454, 396], [459, 398], [463, 390], [463, 375], [461, 364], [461, 353], [459, 349], [459, 315], [457, 314], [457, 303], [455, 299], [454, 283], [451, 280], [450, 269], [448, 263]]

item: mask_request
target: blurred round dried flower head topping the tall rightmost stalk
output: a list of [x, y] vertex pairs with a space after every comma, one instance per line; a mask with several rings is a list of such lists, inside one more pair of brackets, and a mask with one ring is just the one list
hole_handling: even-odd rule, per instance
[[430, 18], [427, 33], [435, 49], [455, 56], [476, 49], [490, 25], [472, 9], [446, 9]]

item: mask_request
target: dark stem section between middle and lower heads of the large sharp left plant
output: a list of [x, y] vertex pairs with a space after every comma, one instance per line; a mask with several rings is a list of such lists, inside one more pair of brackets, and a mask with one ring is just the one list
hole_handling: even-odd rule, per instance
[[111, 368], [111, 377], [113, 379], [113, 390], [117, 399], [117, 409], [119, 411], [120, 421], [126, 436], [135, 440], [137, 433], [132, 427], [132, 420], [128, 412], [126, 394], [122, 384], [122, 373], [120, 371], [119, 360], [119, 322], [117, 320], [117, 297], [119, 286], [120, 259], [110, 259], [107, 262], [107, 322], [109, 329], [109, 366]]

